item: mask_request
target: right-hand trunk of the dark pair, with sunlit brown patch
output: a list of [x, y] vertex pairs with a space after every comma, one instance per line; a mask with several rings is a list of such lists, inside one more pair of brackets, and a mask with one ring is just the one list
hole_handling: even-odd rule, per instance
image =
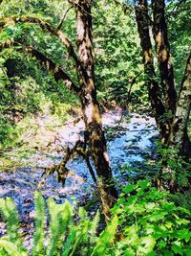
[[168, 41], [167, 24], [165, 21], [164, 0], [152, 0], [153, 4], [153, 32], [156, 44], [156, 53], [159, 61], [159, 72], [163, 100], [169, 117], [175, 114], [177, 91], [175, 88], [173, 64], [170, 55], [170, 44]]

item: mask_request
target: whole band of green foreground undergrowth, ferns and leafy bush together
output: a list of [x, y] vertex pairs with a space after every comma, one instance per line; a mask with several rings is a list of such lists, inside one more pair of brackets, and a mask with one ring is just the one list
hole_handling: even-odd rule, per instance
[[110, 223], [97, 235], [98, 212], [90, 221], [83, 208], [76, 214], [68, 201], [56, 204], [52, 198], [46, 228], [46, 201], [36, 192], [31, 254], [23, 245], [14, 203], [11, 198], [0, 199], [8, 229], [0, 239], [0, 256], [191, 255], [190, 212], [167, 198], [145, 180], [125, 187]]

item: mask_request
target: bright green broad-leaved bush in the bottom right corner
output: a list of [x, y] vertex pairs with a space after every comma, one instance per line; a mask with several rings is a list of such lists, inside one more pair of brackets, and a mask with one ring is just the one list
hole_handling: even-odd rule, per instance
[[191, 255], [189, 210], [168, 201], [168, 193], [148, 181], [124, 188], [112, 212], [124, 237], [116, 255]]

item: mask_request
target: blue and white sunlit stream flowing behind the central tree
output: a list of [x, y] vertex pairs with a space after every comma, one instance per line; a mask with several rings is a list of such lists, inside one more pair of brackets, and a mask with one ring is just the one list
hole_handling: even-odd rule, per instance
[[[129, 170], [134, 175], [132, 170], [138, 169], [146, 162], [145, 155], [151, 156], [151, 152], [155, 151], [153, 138], [158, 136], [154, 118], [131, 114], [123, 119], [125, 120], [120, 122], [120, 111], [103, 114], [108, 153], [117, 187], [127, 183]], [[130, 121], [127, 122], [127, 119]], [[72, 147], [75, 141], [82, 136], [83, 130], [82, 121], [75, 126], [74, 122], [68, 122], [59, 129], [59, 140], [55, 141], [55, 144]], [[35, 190], [39, 189], [45, 198], [54, 198], [58, 203], [68, 199], [84, 206], [87, 201], [96, 198], [94, 182], [86, 164], [80, 158], [74, 158], [73, 162], [68, 164], [68, 168], [73, 172], [67, 177], [64, 188], [57, 183], [56, 175], [50, 175], [45, 184], [39, 188], [43, 168], [53, 166], [61, 159], [62, 154], [59, 152], [46, 154], [36, 152], [26, 160], [29, 162], [29, 167], [19, 168], [14, 172], [0, 172], [0, 198], [10, 197], [14, 200], [22, 223], [24, 223], [22, 224], [23, 231], [26, 234], [30, 233], [32, 229], [33, 193]], [[37, 168], [30, 167], [30, 162], [35, 163]], [[97, 206], [92, 208], [90, 214], [94, 215], [96, 208]], [[0, 220], [0, 237], [6, 233], [5, 227], [6, 224]], [[26, 240], [30, 241], [29, 236], [26, 236]]]

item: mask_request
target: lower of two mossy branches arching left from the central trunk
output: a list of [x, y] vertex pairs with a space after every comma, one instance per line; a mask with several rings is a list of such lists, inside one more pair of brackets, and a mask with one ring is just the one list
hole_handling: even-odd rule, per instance
[[72, 79], [60, 67], [58, 67], [51, 58], [48, 58], [38, 50], [33, 49], [32, 46], [21, 45], [18, 42], [11, 42], [11, 40], [4, 41], [0, 44], [0, 51], [11, 46], [19, 47], [17, 50], [22, 50], [28, 54], [31, 54], [33, 57], [39, 60], [39, 62], [46, 66], [47, 70], [53, 74], [55, 81], [65, 81], [67, 88], [70, 90], [72, 89], [74, 93], [79, 96], [80, 88], [74, 84], [74, 81], [72, 81]]

